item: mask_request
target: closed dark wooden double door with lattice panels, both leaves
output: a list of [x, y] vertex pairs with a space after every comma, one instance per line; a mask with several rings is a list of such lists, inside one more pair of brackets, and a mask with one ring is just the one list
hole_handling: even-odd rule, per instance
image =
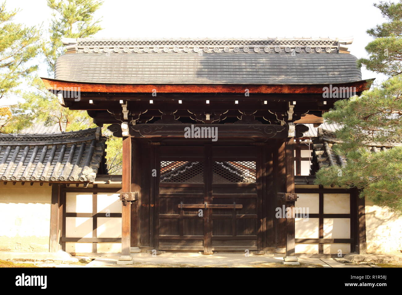
[[258, 250], [257, 146], [159, 146], [158, 250]]

